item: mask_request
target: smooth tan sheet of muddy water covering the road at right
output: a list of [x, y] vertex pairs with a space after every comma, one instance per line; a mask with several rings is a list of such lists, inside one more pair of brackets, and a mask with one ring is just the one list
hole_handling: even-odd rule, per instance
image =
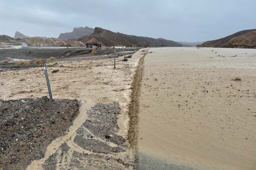
[[139, 100], [137, 168], [256, 169], [256, 50], [150, 51]]

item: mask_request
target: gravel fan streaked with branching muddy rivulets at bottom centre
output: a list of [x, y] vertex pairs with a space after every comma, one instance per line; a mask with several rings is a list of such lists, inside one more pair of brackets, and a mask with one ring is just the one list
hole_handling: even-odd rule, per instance
[[[43, 169], [125, 169], [132, 161], [121, 158], [129, 148], [118, 135], [119, 104], [97, 103], [87, 111], [87, 120], [68, 142], [44, 162]], [[118, 156], [117, 156], [118, 153]]]

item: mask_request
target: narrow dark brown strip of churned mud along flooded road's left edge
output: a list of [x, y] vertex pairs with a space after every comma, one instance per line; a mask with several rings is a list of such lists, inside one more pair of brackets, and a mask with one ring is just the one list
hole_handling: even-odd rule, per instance
[[144, 70], [144, 58], [147, 54], [145, 54], [140, 58], [137, 70], [134, 75], [133, 82], [131, 84], [131, 102], [128, 105], [128, 115], [130, 118], [129, 121], [129, 130], [128, 130], [128, 141], [132, 149], [136, 149], [137, 136], [138, 136], [138, 112], [139, 112], [139, 95], [140, 95], [140, 87], [141, 80]]

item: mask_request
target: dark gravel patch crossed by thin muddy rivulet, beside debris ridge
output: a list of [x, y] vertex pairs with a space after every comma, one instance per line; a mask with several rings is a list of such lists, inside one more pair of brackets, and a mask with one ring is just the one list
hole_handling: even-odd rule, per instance
[[[92, 132], [90, 135], [83, 127], [76, 132], [74, 142], [78, 146], [97, 153], [111, 153], [125, 151], [127, 146], [124, 144], [125, 139], [117, 135], [118, 125], [117, 116], [120, 112], [118, 103], [102, 104], [98, 103], [87, 111], [87, 120], [83, 127]], [[100, 138], [101, 140], [98, 140]], [[111, 147], [106, 142], [112, 142], [118, 147]]]

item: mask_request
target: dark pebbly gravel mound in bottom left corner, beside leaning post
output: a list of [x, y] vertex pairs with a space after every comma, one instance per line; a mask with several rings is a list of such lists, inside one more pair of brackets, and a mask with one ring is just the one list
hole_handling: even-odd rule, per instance
[[77, 100], [47, 97], [0, 102], [0, 169], [22, 170], [44, 157], [78, 115]]

